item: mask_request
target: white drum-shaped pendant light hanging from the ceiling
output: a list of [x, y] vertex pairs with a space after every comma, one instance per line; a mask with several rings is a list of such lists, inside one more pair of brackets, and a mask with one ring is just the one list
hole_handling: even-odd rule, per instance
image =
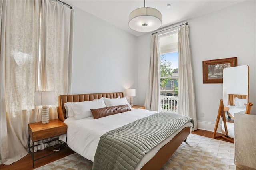
[[162, 14], [155, 8], [145, 6], [133, 10], [129, 15], [129, 27], [138, 32], [152, 32], [160, 28]]

